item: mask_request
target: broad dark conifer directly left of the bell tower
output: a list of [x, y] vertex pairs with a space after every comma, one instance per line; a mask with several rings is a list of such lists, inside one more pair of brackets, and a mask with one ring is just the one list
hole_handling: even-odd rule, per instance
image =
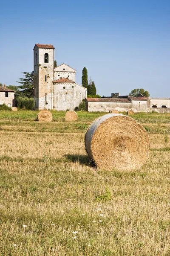
[[20, 90], [20, 96], [32, 98], [33, 97], [33, 88], [34, 88], [34, 71], [32, 72], [22, 72], [24, 74], [24, 78], [20, 78], [21, 84], [18, 86]]

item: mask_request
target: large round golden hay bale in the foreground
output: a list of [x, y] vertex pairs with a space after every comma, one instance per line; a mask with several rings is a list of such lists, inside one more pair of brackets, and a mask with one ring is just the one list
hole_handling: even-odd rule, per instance
[[142, 125], [129, 116], [106, 114], [85, 135], [88, 156], [99, 169], [133, 170], [146, 161], [150, 142]]

